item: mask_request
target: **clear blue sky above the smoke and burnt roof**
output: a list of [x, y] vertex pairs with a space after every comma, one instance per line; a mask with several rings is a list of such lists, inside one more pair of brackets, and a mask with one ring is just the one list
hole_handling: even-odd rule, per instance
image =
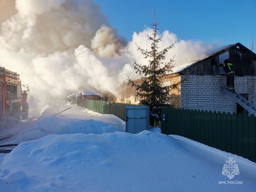
[[132, 40], [134, 31], [150, 27], [156, 18], [160, 32], [169, 30], [179, 39], [247, 46], [256, 39], [256, 0], [168, 1], [95, 0], [120, 35]]

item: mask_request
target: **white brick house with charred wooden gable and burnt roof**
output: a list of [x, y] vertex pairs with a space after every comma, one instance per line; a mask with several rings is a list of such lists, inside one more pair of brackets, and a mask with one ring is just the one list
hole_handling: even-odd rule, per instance
[[[221, 112], [246, 113], [246, 111], [221, 90], [226, 85], [226, 74], [217, 63], [229, 59], [234, 65], [236, 92], [256, 105], [256, 54], [240, 43], [228, 45], [218, 52], [173, 68], [173, 73], [163, 78], [163, 84], [169, 85], [186, 79], [177, 90], [172, 90], [169, 101], [175, 107], [212, 110]], [[212, 65], [215, 64], [215, 65]], [[140, 80], [137, 80], [140, 84]], [[131, 84], [125, 85], [123, 98], [131, 103], [138, 103]]]

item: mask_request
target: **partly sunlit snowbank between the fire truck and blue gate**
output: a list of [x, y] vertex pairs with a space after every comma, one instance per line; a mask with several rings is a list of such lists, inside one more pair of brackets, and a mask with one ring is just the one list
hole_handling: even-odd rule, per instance
[[[65, 109], [68, 110], [53, 116]], [[55, 101], [55, 104], [48, 105], [44, 111], [40, 112], [41, 114], [35, 115], [31, 111], [33, 115], [25, 124], [0, 130], [0, 138], [12, 135], [3, 144], [19, 144], [23, 141], [40, 139], [49, 134], [125, 132], [125, 122], [118, 117], [101, 115], [72, 105], [68, 101]]]

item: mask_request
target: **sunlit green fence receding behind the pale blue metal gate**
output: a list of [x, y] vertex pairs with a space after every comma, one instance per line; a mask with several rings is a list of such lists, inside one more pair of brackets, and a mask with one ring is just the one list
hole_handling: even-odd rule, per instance
[[125, 121], [125, 106], [133, 106], [135, 104], [126, 103], [116, 103], [110, 101], [100, 101], [100, 100], [81, 100], [81, 99], [71, 99], [72, 103], [87, 108], [90, 111], [94, 111], [101, 114], [112, 114], [123, 121]]

